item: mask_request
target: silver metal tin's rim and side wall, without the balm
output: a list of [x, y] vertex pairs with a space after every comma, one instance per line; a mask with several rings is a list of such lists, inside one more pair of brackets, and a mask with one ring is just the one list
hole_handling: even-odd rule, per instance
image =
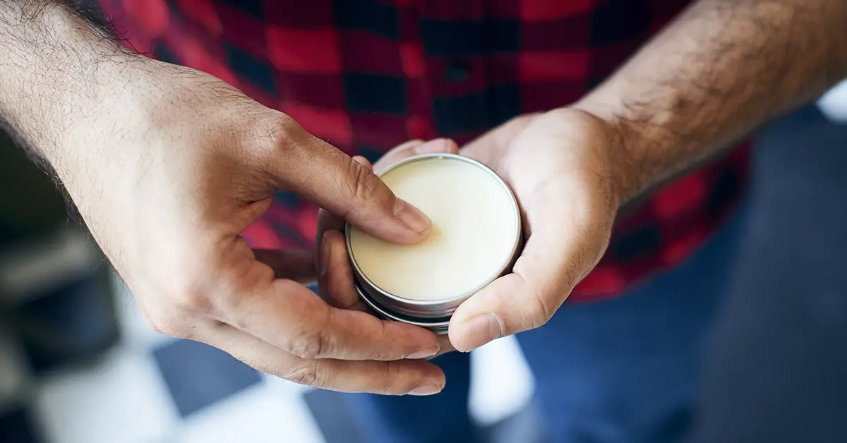
[[356, 262], [356, 257], [352, 251], [351, 245], [351, 235], [350, 232], [352, 230], [352, 226], [347, 224], [345, 227], [345, 235], [346, 235], [346, 247], [347, 247], [347, 256], [350, 258], [350, 263], [353, 269], [353, 276], [356, 280], [356, 291], [359, 296], [362, 297], [363, 301], [368, 303], [368, 305], [374, 309], [374, 312], [377, 313], [380, 317], [401, 321], [408, 324], [416, 324], [418, 326], [431, 329], [436, 334], [446, 334], [447, 326], [450, 324], [450, 318], [452, 313], [454, 313], [462, 302], [468, 299], [468, 297], [473, 296], [480, 289], [484, 288], [486, 285], [489, 285], [492, 281], [496, 280], [503, 274], [507, 274], [512, 269], [512, 264], [518, 257], [518, 252], [520, 248], [523, 246], [523, 228], [521, 226], [521, 216], [518, 208], [518, 199], [515, 198], [512, 189], [507, 185], [507, 183], [501, 179], [494, 170], [485, 166], [483, 163], [479, 163], [473, 158], [464, 157], [456, 154], [421, 154], [411, 158], [406, 158], [397, 162], [390, 167], [383, 170], [379, 173], [379, 176], [388, 174], [390, 171], [401, 168], [403, 165], [414, 162], [421, 161], [462, 161], [465, 163], [473, 164], [473, 166], [484, 170], [489, 173], [491, 176], [497, 180], [497, 182], [503, 186], [503, 188], [507, 191], [509, 197], [512, 200], [513, 213], [515, 217], [515, 226], [516, 231], [514, 233], [514, 241], [512, 250], [507, 257], [504, 257], [503, 263], [495, 274], [492, 274], [489, 279], [484, 280], [479, 283], [473, 290], [465, 292], [458, 296], [451, 296], [449, 298], [444, 298], [440, 300], [412, 300], [408, 298], [403, 298], [401, 296], [396, 296], [391, 294], [379, 286], [375, 285], [374, 282], [368, 279], [368, 277], [363, 273], [363, 270], [359, 267]]

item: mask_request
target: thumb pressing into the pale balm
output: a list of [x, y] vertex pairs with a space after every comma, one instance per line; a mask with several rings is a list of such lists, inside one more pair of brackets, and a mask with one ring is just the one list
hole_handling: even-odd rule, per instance
[[293, 121], [286, 126], [274, 147], [282, 155], [268, 165], [277, 187], [294, 191], [381, 240], [412, 244], [429, 235], [429, 218], [397, 198], [367, 165]]

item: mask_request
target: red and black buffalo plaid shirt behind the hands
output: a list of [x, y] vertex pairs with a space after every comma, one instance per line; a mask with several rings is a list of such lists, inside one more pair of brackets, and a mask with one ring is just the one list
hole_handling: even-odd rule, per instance
[[[371, 161], [403, 141], [461, 145], [574, 102], [687, 3], [101, 0], [137, 50], [216, 75]], [[732, 212], [747, 159], [736, 149], [620, 220], [571, 299], [619, 293], [683, 261]], [[244, 236], [257, 247], [310, 247], [315, 221], [315, 208], [280, 193]]]

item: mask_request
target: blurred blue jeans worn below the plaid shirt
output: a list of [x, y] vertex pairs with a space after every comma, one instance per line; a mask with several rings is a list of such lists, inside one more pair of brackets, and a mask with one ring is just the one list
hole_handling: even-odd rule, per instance
[[[743, 213], [678, 268], [616, 298], [565, 303], [543, 327], [518, 335], [536, 379], [546, 440], [682, 440]], [[469, 357], [454, 352], [435, 363], [447, 376], [438, 395], [346, 396], [366, 441], [474, 441]]]

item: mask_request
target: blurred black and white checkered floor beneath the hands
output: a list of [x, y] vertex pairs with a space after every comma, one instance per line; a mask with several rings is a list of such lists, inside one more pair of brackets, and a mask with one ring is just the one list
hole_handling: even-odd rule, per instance
[[[0, 441], [357, 443], [338, 394], [258, 374], [209, 346], [158, 335], [125, 292], [117, 297], [122, 339], [95, 363], [33, 377], [24, 353], [0, 336], [0, 398], [8, 391], [0, 407]], [[474, 358], [473, 415], [489, 427], [502, 424], [531, 395], [523, 357], [509, 340], [486, 346]], [[3, 431], [4, 417], [17, 430]], [[526, 415], [507, 427], [524, 437], [534, 431]], [[516, 441], [502, 440], [504, 432], [501, 427], [490, 434]]]

